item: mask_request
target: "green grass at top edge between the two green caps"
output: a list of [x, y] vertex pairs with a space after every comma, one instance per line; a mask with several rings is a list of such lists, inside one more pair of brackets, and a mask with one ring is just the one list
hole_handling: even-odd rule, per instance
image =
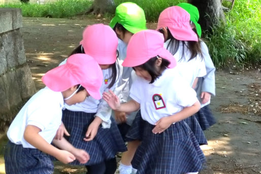
[[116, 6], [124, 2], [133, 2], [139, 5], [145, 12], [147, 21], [157, 22], [160, 12], [164, 9], [175, 6], [179, 3], [186, 2], [185, 0], [114, 0]]

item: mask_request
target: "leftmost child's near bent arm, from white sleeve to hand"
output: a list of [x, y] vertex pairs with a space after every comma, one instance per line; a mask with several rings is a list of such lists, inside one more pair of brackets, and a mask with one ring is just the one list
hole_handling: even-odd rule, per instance
[[39, 149], [40, 151], [54, 156], [63, 163], [73, 162], [76, 159], [75, 156], [70, 152], [59, 150], [46, 142], [44, 138], [39, 134], [40, 131], [41, 129], [37, 126], [27, 125], [23, 134], [24, 140], [26, 140], [29, 144]]

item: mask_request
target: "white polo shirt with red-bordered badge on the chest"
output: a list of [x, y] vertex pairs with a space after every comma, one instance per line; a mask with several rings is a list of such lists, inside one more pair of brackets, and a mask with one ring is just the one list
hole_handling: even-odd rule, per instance
[[141, 105], [141, 116], [154, 125], [160, 118], [174, 115], [198, 99], [195, 91], [184, 82], [176, 68], [166, 69], [152, 84], [137, 77], [130, 96]]

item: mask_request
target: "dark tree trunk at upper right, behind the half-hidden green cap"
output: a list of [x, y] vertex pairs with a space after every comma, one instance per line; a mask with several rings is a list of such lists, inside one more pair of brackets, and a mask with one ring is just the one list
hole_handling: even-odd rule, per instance
[[203, 30], [211, 32], [211, 28], [225, 20], [220, 0], [188, 0], [200, 12], [199, 24]]

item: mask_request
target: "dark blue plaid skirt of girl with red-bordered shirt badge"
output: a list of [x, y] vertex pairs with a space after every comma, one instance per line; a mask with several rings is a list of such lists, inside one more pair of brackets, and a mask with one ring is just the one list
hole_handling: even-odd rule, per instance
[[144, 124], [143, 140], [132, 161], [137, 174], [181, 174], [202, 169], [205, 156], [184, 121], [159, 134], [152, 133], [154, 127]]

